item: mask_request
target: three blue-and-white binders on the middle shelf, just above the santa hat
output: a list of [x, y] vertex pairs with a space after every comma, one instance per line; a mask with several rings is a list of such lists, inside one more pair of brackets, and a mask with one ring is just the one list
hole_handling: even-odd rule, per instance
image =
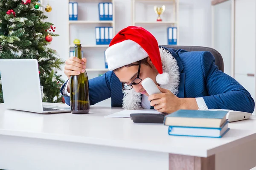
[[109, 45], [113, 39], [113, 27], [95, 27], [96, 45]]

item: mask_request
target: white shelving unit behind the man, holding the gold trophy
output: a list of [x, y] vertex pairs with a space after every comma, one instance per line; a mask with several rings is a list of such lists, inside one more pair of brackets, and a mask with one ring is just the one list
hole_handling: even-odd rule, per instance
[[[168, 44], [168, 27], [177, 27], [177, 45], [179, 44], [179, 0], [131, 0], [133, 26], [141, 26], [150, 31], [159, 45]], [[157, 21], [158, 15], [154, 6], [166, 6], [162, 21]], [[142, 15], [143, 14], [143, 15]]]

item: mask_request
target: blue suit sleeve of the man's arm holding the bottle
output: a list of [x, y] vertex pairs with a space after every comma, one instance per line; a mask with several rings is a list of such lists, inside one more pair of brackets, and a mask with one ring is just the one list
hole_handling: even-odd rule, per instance
[[[108, 71], [102, 76], [93, 78], [89, 80], [89, 99], [90, 105], [95, 105], [105, 99], [111, 97], [110, 81], [113, 75], [113, 71]], [[67, 81], [69, 82], [69, 81]], [[61, 94], [64, 96], [65, 103], [70, 105], [70, 96], [63, 93], [67, 82], [61, 87]]]

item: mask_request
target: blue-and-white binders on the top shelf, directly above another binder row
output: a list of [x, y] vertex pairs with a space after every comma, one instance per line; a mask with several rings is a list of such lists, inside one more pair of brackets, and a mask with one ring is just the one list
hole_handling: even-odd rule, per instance
[[99, 3], [99, 20], [112, 21], [113, 20], [113, 4]]

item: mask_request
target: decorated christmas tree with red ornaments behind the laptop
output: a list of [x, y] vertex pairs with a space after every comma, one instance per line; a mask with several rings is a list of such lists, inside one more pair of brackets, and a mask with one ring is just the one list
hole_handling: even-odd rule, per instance
[[55, 50], [47, 47], [52, 36], [58, 34], [53, 33], [52, 23], [44, 22], [48, 17], [40, 6], [44, 5], [38, 0], [0, 0], [0, 59], [37, 59], [40, 83], [44, 86], [43, 102], [61, 102], [59, 90], [64, 81], [57, 70], [64, 61], [58, 58]]

